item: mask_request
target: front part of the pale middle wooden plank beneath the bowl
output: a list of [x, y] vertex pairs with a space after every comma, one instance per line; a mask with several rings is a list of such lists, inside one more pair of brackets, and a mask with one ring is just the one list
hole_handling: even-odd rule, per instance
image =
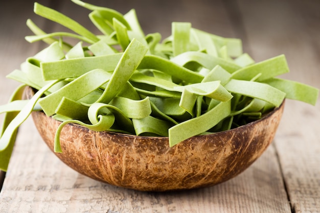
[[275, 150], [244, 173], [199, 190], [144, 193], [104, 184], [68, 168], [31, 119], [21, 127], [0, 212], [290, 212]]

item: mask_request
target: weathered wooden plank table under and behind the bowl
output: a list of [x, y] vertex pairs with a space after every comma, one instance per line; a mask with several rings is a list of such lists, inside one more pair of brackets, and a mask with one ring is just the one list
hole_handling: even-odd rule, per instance
[[[256, 61], [285, 54], [283, 77], [320, 86], [320, 2], [314, 0], [91, 1], [120, 12], [135, 8], [146, 33], [170, 34], [172, 21], [243, 40]], [[70, 1], [45, 0], [95, 31], [88, 11]], [[29, 44], [32, 18], [44, 31], [60, 27], [33, 14], [32, 1], [0, 6], [0, 104], [18, 83], [5, 76], [44, 47]], [[275, 140], [245, 172], [198, 190], [146, 193], [97, 182], [62, 163], [31, 119], [19, 129], [0, 193], [0, 212], [320, 212], [320, 104], [287, 100]], [[4, 178], [5, 176], [5, 178]]]

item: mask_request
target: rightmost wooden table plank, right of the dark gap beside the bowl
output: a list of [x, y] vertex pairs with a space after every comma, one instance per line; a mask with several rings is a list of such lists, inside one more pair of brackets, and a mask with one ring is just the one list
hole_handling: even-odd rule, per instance
[[[247, 3], [246, 7], [243, 2]], [[285, 54], [284, 77], [319, 88], [318, 1], [238, 1], [252, 54]], [[293, 212], [320, 212], [320, 110], [288, 100], [275, 147]]]

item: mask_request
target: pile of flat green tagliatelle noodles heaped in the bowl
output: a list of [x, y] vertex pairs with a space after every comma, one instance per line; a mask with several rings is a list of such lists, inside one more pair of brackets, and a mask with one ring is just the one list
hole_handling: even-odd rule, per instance
[[[172, 35], [162, 38], [145, 35], [133, 9], [123, 15], [72, 2], [89, 10], [102, 35], [35, 3], [36, 14], [72, 32], [46, 33], [27, 20], [35, 35], [26, 40], [49, 45], [7, 76], [22, 86], [0, 106], [5, 113], [1, 170], [7, 170], [17, 128], [35, 110], [62, 122], [54, 146], [62, 152], [60, 133], [70, 123], [93, 131], [166, 136], [172, 147], [261, 119], [285, 98], [315, 105], [317, 88], [278, 78], [289, 72], [284, 55], [256, 63], [242, 52], [240, 39], [204, 32], [189, 22], [172, 22]], [[36, 92], [22, 100], [27, 85]]]

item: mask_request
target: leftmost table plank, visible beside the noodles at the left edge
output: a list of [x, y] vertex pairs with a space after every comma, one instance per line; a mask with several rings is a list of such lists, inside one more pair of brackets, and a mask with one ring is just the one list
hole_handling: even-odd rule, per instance
[[[14, 81], [5, 82], [5, 76], [13, 69], [19, 68], [21, 61], [26, 59], [26, 55], [36, 53], [38, 47], [31, 47], [21, 36], [29, 31], [25, 20], [21, 20], [21, 16], [34, 17], [32, 5], [21, 3], [20, 6], [16, 6], [6, 1], [0, 7], [0, 14], [0, 105], [3, 105], [8, 102], [11, 92], [19, 85]], [[3, 115], [0, 114], [0, 121], [2, 120]], [[0, 190], [4, 178], [5, 173], [0, 171]]]

